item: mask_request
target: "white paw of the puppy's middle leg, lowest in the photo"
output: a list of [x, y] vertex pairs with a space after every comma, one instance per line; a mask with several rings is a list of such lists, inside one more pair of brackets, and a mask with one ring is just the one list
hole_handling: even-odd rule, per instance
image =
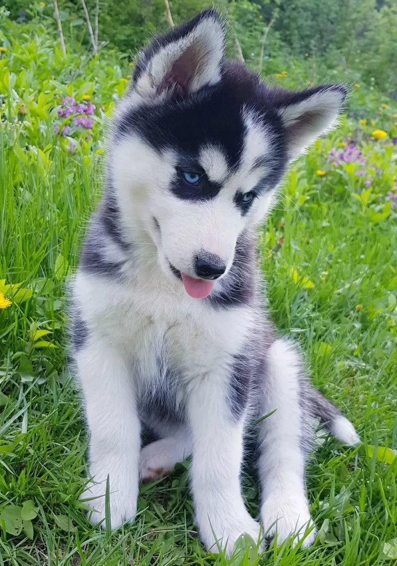
[[236, 517], [227, 513], [222, 516], [217, 515], [212, 514], [202, 522], [197, 521], [201, 541], [210, 552], [216, 553], [222, 548], [230, 558], [236, 540], [243, 533], [251, 535], [254, 541], [258, 542], [260, 524], [247, 511]]

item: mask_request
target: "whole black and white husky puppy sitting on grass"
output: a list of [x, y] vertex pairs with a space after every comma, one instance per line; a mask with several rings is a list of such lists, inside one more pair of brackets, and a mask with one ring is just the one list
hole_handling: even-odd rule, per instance
[[[214, 10], [154, 38], [137, 59], [107, 139], [106, 187], [74, 281], [74, 358], [90, 431], [93, 524], [132, 520], [139, 478], [190, 454], [202, 542], [230, 555], [258, 539], [240, 491], [243, 444], [256, 439], [262, 533], [313, 542], [305, 464], [314, 419], [344, 443], [352, 424], [305, 378], [300, 355], [274, 336], [262, 303], [255, 231], [288, 162], [335, 125], [343, 85], [269, 88], [225, 59]], [[181, 171], [200, 170], [188, 185]], [[253, 192], [253, 199], [244, 197]], [[198, 255], [225, 273], [190, 297]], [[263, 415], [270, 417], [254, 424]], [[141, 433], [157, 439], [141, 447]]]

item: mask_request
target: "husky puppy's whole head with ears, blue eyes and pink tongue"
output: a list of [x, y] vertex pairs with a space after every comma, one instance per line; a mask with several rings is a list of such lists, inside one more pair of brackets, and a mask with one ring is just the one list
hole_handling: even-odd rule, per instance
[[113, 123], [124, 222], [140, 224], [169, 277], [205, 297], [236, 242], [274, 202], [288, 161], [334, 125], [346, 90], [270, 89], [224, 58], [213, 10], [156, 38]]

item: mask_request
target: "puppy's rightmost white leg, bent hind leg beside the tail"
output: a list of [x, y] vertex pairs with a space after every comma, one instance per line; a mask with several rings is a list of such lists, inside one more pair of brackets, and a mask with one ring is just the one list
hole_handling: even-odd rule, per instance
[[[292, 533], [303, 538], [311, 524], [305, 492], [305, 465], [310, 449], [311, 419], [301, 410], [299, 355], [287, 341], [277, 340], [267, 354], [263, 414], [275, 413], [258, 426], [261, 481], [261, 518], [264, 534], [272, 538], [277, 530], [281, 543]], [[313, 543], [315, 530], [304, 538]]]

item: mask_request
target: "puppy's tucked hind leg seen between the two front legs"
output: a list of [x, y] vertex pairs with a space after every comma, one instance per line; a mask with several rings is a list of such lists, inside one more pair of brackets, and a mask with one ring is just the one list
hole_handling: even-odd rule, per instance
[[180, 428], [172, 436], [166, 436], [148, 444], [141, 450], [139, 474], [141, 479], [158, 479], [183, 462], [192, 453], [191, 436], [187, 428]]

